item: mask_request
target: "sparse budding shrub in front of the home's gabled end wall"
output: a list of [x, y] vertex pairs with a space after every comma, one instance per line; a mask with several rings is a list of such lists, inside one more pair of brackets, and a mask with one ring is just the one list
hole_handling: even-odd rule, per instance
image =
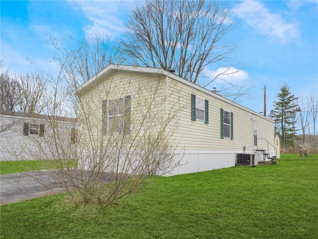
[[[61, 99], [60, 95], [65, 94], [59, 90], [60, 85], [73, 89], [68, 94], [72, 93], [70, 99], [77, 101], [79, 127], [78, 136], [68, 137], [70, 130], [52, 117], [45, 136], [34, 137], [37, 151], [41, 152], [41, 157], [35, 158], [60, 162], [59, 169], [49, 170], [48, 180], [53, 185], [64, 188], [76, 203], [106, 206], [143, 188], [156, 178], [151, 175], [168, 173], [178, 165], [176, 143], [172, 144], [170, 137], [178, 122], [177, 112], [186, 102], [167, 104], [160, 74], [155, 79], [139, 74], [122, 79], [113, 74], [97, 81], [100, 84], [93, 84], [89, 91], [79, 92], [89, 72], [87, 64], [79, 64], [80, 51], [57, 47], [57, 52], [55, 60], [61, 70], [55, 79], [54, 98]], [[133, 81], [136, 84], [131, 84]], [[178, 89], [176, 92], [180, 94]], [[51, 107], [57, 108], [54, 112], [63, 111], [58, 104]], [[78, 162], [76, 167], [68, 164], [70, 159]]]

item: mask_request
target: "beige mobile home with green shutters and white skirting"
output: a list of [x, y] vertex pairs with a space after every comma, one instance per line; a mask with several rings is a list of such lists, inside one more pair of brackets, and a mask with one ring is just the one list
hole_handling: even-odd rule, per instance
[[[148, 107], [152, 111], [143, 119], [155, 131], [162, 119], [173, 116], [166, 127], [172, 132], [168, 140], [182, 160], [172, 174], [235, 166], [238, 157], [254, 166], [264, 154], [276, 156], [273, 120], [163, 69], [109, 65], [78, 94], [85, 112], [79, 124], [93, 123], [90, 137], [96, 141], [124, 115], [129, 115], [125, 127], [133, 130]], [[110, 104], [122, 104], [127, 115], [104, 110]], [[87, 138], [84, 131], [82, 138]]]

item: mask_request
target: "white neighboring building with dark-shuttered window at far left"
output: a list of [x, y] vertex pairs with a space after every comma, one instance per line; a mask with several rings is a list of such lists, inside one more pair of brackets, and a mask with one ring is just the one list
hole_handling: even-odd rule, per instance
[[[57, 144], [52, 141], [53, 122], [59, 135]], [[1, 111], [0, 130], [1, 161], [55, 159], [54, 145], [72, 148], [78, 140], [78, 120], [73, 118]]]

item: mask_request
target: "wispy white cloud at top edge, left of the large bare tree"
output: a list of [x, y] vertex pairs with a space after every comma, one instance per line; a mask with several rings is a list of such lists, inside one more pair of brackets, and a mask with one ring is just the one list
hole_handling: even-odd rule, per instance
[[72, 1], [72, 3], [77, 3], [90, 21], [90, 24], [87, 24], [83, 29], [86, 35], [108, 35], [109, 37], [115, 37], [126, 30], [123, 13], [134, 2], [77, 0]]

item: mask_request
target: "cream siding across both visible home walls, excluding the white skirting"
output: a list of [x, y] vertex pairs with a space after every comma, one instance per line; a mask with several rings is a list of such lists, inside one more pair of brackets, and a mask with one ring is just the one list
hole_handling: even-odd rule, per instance
[[[107, 85], [107, 81], [111, 83], [111, 90]], [[158, 81], [160, 81], [158, 85]], [[110, 85], [110, 84], [109, 84]], [[193, 85], [193, 86], [192, 86]], [[258, 120], [258, 137], [268, 138], [274, 141], [274, 123], [270, 119], [265, 119], [257, 113], [248, 111], [236, 103], [227, 101], [226, 99], [208, 92], [203, 88], [194, 84], [190, 84], [186, 80], [176, 81], [168, 76], [159, 77], [157, 74], [136, 73], [116, 73], [109, 80], [99, 81], [93, 89], [82, 93], [81, 100], [86, 104], [89, 110], [89, 122], [92, 124], [92, 131], [98, 136], [99, 128], [95, 125], [101, 125], [102, 109], [100, 104], [102, 100], [118, 99], [125, 95], [131, 95], [131, 113], [132, 117], [137, 117], [138, 111], [142, 109], [142, 103], [136, 95], [136, 90], [142, 88], [140, 98], [145, 96], [151, 97], [152, 92], [146, 92], [145, 89], [159, 87], [159, 94], [168, 96], [164, 109], [158, 109], [158, 116], [168, 116], [171, 109], [177, 105], [180, 110], [177, 119], [173, 122], [177, 123], [177, 127], [171, 137], [171, 142], [180, 150], [217, 150], [218, 152], [243, 152], [243, 146], [246, 146], [246, 152], [253, 151], [253, 130], [251, 119]], [[201, 99], [208, 101], [208, 119], [209, 124], [202, 124], [200, 120], [192, 119], [191, 95], [195, 95]], [[216, 95], [216, 96], [214, 96]], [[223, 100], [224, 99], [224, 100]], [[232, 112], [234, 139], [224, 140], [220, 137], [220, 109]], [[155, 117], [151, 118], [157, 120]], [[136, 123], [137, 119], [132, 119]], [[233, 136], [233, 135], [231, 135]], [[258, 142], [258, 147], [262, 147], [262, 142]], [[265, 144], [264, 144], [265, 145]], [[266, 144], [267, 145], [267, 144]], [[267, 147], [267, 146], [266, 146]]]

